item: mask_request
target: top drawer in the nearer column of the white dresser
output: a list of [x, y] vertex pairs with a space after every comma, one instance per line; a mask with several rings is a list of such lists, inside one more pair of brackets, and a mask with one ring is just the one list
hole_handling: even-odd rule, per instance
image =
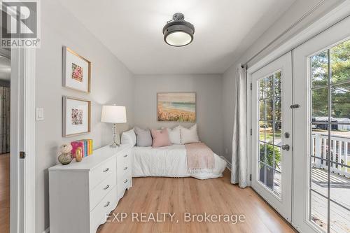
[[108, 176], [116, 176], [116, 158], [113, 157], [90, 171], [90, 190], [94, 189]]

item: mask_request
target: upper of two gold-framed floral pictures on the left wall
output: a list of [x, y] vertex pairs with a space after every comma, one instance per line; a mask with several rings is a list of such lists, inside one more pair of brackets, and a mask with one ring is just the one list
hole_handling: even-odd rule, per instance
[[62, 85], [90, 93], [91, 62], [63, 46]]

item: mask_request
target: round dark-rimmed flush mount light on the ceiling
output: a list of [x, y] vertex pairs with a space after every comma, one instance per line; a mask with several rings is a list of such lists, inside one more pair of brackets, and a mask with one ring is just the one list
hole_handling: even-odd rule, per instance
[[168, 21], [163, 27], [163, 34], [165, 43], [181, 47], [193, 41], [195, 27], [190, 22], [185, 21], [185, 15], [175, 13], [173, 19]]

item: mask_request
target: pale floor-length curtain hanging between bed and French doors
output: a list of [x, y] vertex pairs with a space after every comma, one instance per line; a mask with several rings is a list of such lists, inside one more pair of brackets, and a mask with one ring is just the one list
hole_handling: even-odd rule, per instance
[[246, 151], [246, 66], [239, 65], [236, 73], [231, 183], [246, 188], [248, 155]]

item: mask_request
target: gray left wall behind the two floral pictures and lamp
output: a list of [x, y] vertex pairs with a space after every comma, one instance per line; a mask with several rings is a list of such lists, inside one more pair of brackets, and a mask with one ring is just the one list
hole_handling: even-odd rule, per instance
[[[57, 148], [77, 139], [94, 139], [94, 148], [110, 143], [111, 125], [100, 122], [103, 104], [127, 107], [133, 125], [133, 76], [75, 17], [54, 1], [41, 1], [41, 48], [36, 53], [36, 106], [45, 120], [36, 122], [36, 232], [49, 227], [48, 167], [57, 163]], [[95, 15], [96, 16], [96, 15]], [[62, 46], [92, 62], [91, 94], [62, 87]], [[62, 138], [62, 95], [92, 101], [90, 134]], [[69, 190], [67, 190], [69, 192]]]

